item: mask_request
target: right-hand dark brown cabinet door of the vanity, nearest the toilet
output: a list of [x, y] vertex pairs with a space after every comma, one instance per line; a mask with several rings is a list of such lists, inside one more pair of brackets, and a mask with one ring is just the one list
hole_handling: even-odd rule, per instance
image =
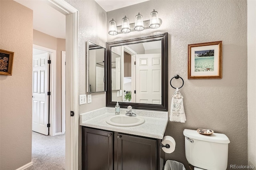
[[157, 140], [115, 133], [115, 170], [156, 170]]

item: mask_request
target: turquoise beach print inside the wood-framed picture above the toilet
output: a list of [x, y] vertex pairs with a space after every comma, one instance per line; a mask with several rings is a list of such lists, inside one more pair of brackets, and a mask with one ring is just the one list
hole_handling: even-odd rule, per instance
[[195, 72], [214, 71], [214, 49], [195, 51]]

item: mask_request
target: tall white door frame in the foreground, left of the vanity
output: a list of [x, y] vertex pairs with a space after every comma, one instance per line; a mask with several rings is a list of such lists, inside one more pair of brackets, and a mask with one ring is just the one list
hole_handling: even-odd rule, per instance
[[[48, 0], [66, 16], [66, 132], [65, 169], [78, 169], [78, 10], [65, 0]], [[70, 112], [74, 111], [74, 117]]]

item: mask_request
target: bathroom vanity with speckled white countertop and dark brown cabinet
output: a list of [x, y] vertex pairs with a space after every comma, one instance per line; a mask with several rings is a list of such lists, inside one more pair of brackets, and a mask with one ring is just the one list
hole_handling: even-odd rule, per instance
[[[121, 115], [126, 109], [121, 109]], [[83, 170], [162, 170], [165, 153], [160, 148], [168, 112], [134, 110], [145, 122], [118, 127], [106, 123], [114, 108], [80, 115]], [[128, 116], [127, 116], [128, 118]]]

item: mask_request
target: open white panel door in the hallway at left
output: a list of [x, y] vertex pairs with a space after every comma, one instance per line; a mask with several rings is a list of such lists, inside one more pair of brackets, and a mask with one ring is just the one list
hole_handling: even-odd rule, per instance
[[33, 55], [32, 130], [48, 135], [48, 53]]

